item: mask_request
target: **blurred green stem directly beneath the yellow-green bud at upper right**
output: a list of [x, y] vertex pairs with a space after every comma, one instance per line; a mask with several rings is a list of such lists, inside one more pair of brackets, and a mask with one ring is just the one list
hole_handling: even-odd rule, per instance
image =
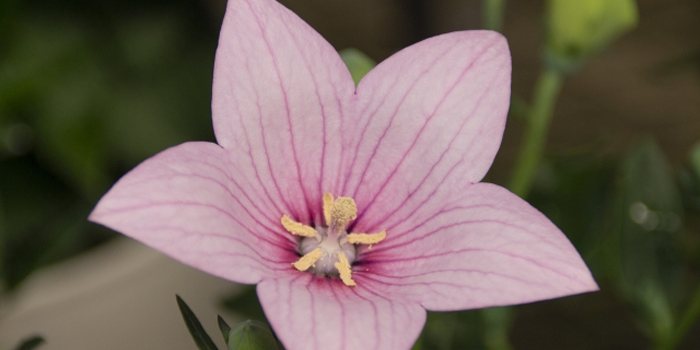
[[559, 71], [545, 68], [535, 86], [534, 102], [509, 186], [510, 190], [520, 197], [527, 197], [535, 179], [563, 78]]

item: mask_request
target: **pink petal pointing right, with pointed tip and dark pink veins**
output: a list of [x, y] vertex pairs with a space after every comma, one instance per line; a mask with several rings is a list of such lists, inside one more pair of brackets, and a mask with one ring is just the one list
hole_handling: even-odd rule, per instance
[[358, 284], [370, 281], [372, 288], [428, 310], [519, 304], [598, 289], [554, 224], [487, 183], [420, 208], [390, 227], [387, 239], [366, 251], [362, 262]]

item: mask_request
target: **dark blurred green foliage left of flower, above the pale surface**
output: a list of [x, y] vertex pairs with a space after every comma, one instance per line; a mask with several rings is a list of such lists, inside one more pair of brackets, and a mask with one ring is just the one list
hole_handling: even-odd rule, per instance
[[0, 2], [3, 290], [113, 237], [86, 218], [123, 173], [213, 140], [208, 11], [184, 0]]

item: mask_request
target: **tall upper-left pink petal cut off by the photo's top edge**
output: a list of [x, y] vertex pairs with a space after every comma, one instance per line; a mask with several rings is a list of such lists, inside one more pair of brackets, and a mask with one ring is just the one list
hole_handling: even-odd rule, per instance
[[[216, 138], [277, 216], [320, 220], [354, 83], [333, 47], [271, 0], [230, 0], [214, 68]], [[311, 214], [311, 215], [310, 215]]]

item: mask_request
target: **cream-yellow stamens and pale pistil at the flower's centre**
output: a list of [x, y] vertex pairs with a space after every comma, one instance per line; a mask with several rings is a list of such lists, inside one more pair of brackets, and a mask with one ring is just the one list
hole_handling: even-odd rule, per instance
[[283, 215], [281, 222], [284, 229], [302, 237], [299, 242], [302, 257], [292, 266], [302, 272], [339, 277], [346, 286], [356, 286], [352, 279], [352, 264], [357, 257], [356, 245], [368, 244], [368, 249], [372, 249], [373, 244], [386, 238], [386, 231], [348, 233], [348, 225], [356, 218], [355, 200], [350, 197], [333, 198], [330, 193], [323, 194], [325, 225], [311, 227]]

